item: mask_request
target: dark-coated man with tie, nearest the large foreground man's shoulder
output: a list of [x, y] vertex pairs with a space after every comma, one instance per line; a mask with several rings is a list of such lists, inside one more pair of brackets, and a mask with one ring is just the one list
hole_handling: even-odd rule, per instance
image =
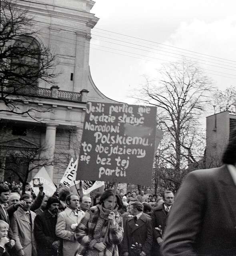
[[152, 228], [153, 228], [153, 248], [152, 255], [160, 255], [160, 246], [162, 245], [162, 235], [166, 227], [166, 220], [172, 204], [174, 202], [174, 194], [170, 190], [166, 190], [162, 195], [163, 204], [155, 207], [152, 211]]

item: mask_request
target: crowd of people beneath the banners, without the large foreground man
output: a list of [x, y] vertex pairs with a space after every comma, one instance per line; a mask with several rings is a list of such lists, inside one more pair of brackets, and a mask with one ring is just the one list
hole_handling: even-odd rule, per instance
[[[166, 201], [169, 195], [171, 200]], [[112, 189], [94, 198], [80, 198], [70, 188], [60, 186], [48, 197], [42, 184], [35, 196], [30, 186], [22, 194], [21, 183], [2, 182], [0, 256], [74, 256], [76, 252], [128, 256], [134, 253], [135, 248], [130, 247], [136, 242], [142, 244], [141, 256], [156, 255], [152, 216], [162, 206], [171, 207], [173, 193], [166, 191], [162, 200], [160, 196], [146, 195], [143, 190], [124, 194], [120, 189], [113, 199]], [[164, 216], [167, 215], [165, 210]], [[130, 222], [134, 216], [137, 220]], [[164, 227], [162, 222], [155, 225], [158, 224]]]

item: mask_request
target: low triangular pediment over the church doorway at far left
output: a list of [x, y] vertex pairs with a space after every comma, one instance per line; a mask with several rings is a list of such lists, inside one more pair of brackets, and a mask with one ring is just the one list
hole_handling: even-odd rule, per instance
[[0, 148], [25, 148], [25, 149], [35, 148], [36, 149], [38, 148], [38, 145], [22, 138], [15, 138], [15, 139], [1, 141]]

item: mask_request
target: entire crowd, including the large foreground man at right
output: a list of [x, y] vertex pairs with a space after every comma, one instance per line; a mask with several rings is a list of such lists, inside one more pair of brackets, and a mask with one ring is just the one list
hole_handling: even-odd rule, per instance
[[176, 197], [108, 189], [92, 200], [62, 186], [32, 196], [3, 182], [0, 256], [236, 256], [236, 130], [222, 163], [190, 172]]

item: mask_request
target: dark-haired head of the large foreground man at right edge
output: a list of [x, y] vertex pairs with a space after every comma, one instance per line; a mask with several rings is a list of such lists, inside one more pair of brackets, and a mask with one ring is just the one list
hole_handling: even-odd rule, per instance
[[236, 128], [230, 134], [230, 139], [222, 156], [223, 164], [236, 164]]

